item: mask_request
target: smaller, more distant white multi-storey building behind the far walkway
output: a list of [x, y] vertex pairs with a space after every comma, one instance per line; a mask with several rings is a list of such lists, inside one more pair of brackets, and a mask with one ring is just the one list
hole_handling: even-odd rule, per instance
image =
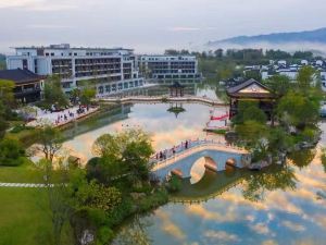
[[195, 56], [139, 56], [139, 71], [153, 82], [200, 81], [198, 61]]

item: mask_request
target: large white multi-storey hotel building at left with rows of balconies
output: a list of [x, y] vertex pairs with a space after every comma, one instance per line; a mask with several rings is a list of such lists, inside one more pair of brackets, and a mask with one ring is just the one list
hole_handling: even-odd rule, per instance
[[66, 93], [85, 79], [96, 81], [98, 95], [115, 94], [143, 85], [131, 49], [71, 48], [63, 44], [20, 47], [15, 51], [15, 56], [7, 57], [9, 70], [20, 68], [38, 75], [60, 75]]

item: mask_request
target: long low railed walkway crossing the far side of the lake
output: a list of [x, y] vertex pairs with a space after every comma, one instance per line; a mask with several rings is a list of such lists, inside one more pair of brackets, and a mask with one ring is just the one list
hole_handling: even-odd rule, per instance
[[123, 103], [123, 102], [202, 102], [210, 106], [227, 106], [218, 100], [198, 97], [198, 96], [184, 96], [184, 97], [170, 97], [163, 96], [130, 96], [130, 97], [103, 97], [97, 98], [99, 102], [108, 103]]

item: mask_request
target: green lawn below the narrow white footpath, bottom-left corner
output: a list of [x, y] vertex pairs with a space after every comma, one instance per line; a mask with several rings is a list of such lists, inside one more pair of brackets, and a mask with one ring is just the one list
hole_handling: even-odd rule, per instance
[[[51, 244], [52, 225], [45, 189], [0, 187], [0, 199], [1, 245]], [[63, 234], [63, 244], [73, 244], [68, 237]]]

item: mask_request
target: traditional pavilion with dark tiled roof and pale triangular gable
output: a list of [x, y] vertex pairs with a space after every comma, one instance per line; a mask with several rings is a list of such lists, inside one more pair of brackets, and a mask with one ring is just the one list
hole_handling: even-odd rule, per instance
[[258, 102], [260, 109], [267, 114], [268, 119], [272, 118], [275, 96], [269, 88], [260, 82], [249, 79], [238, 86], [228, 88], [226, 91], [230, 98], [229, 118], [233, 118], [238, 113], [239, 102], [241, 101]]

